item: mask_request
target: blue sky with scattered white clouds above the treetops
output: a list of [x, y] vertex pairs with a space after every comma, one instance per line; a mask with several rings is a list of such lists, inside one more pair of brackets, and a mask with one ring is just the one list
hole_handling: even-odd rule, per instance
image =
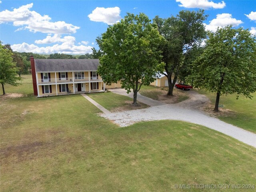
[[204, 8], [206, 29], [232, 24], [256, 34], [256, 0], [0, 1], [0, 40], [14, 51], [39, 54], [90, 53], [97, 36], [127, 12], [167, 18]]

